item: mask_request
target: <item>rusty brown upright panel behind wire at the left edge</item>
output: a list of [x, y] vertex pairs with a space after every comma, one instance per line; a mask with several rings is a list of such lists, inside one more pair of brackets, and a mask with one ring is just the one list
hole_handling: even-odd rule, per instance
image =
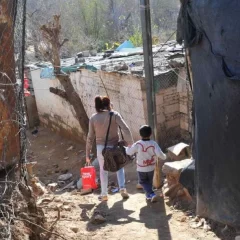
[[19, 159], [15, 92], [14, 14], [16, 0], [0, 1], [0, 170]]

